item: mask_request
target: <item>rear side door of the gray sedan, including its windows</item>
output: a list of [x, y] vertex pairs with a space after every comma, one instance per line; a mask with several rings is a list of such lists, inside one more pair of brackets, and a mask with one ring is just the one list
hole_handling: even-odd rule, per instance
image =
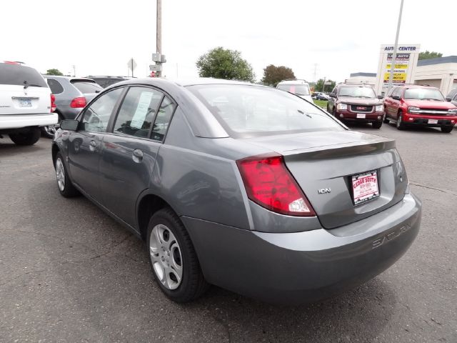
[[103, 204], [132, 227], [136, 226], [136, 200], [149, 188], [175, 107], [158, 89], [131, 86], [104, 139], [100, 161]]

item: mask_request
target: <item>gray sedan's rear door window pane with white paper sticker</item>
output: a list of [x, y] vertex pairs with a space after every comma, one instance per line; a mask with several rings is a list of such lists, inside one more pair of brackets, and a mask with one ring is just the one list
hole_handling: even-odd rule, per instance
[[147, 137], [163, 96], [156, 89], [131, 87], [119, 109], [114, 133]]

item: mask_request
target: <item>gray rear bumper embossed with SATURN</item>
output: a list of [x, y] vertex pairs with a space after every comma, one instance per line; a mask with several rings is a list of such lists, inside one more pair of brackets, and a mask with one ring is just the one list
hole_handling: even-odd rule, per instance
[[393, 207], [337, 229], [265, 233], [182, 217], [206, 279], [267, 302], [313, 302], [390, 267], [418, 234], [421, 202]]

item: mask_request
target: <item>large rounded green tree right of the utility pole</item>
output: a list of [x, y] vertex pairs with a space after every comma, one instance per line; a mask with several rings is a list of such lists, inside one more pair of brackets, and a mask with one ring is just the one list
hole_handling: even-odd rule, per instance
[[224, 49], [222, 46], [200, 56], [196, 65], [201, 77], [249, 82], [254, 82], [256, 79], [251, 64], [241, 58], [239, 51]]

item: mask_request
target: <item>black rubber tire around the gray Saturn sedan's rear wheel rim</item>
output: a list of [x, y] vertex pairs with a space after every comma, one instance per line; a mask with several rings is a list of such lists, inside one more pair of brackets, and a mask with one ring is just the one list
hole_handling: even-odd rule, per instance
[[[182, 266], [182, 277], [181, 283], [176, 289], [166, 288], [154, 270], [154, 261], [151, 257], [151, 233], [157, 225], [164, 225], [166, 229], [174, 235], [176, 242], [179, 244], [179, 250], [181, 251], [180, 261]], [[169, 244], [171, 245], [171, 243]], [[190, 302], [201, 297], [209, 288], [209, 284], [206, 282], [203, 273], [201, 272], [199, 259], [197, 258], [191, 238], [189, 237], [184, 224], [172, 209], [161, 209], [151, 217], [146, 237], [146, 248], [148, 250], [149, 264], [151, 264], [154, 279], [156, 279], [162, 292], [174, 302]]]

